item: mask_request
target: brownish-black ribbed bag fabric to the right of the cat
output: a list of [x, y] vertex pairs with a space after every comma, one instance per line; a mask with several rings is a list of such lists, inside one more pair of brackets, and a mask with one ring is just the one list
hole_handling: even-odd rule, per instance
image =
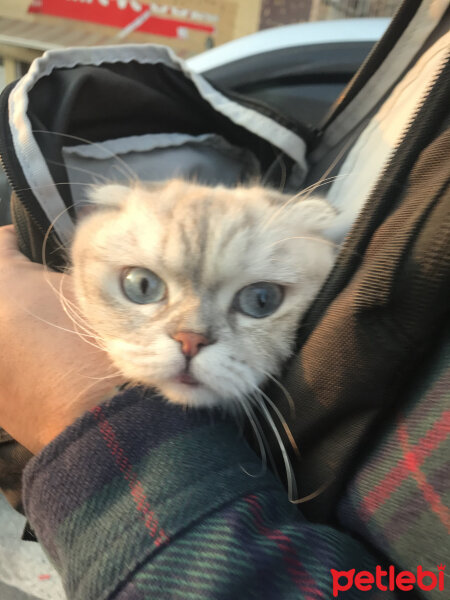
[[[306, 316], [282, 383], [302, 505], [329, 522], [379, 423], [439, 334], [450, 298], [449, 64], [416, 115]], [[433, 141], [434, 138], [434, 141]], [[276, 385], [268, 394], [286, 406]], [[286, 445], [289, 441], [286, 439]], [[280, 472], [282, 457], [272, 441]]]

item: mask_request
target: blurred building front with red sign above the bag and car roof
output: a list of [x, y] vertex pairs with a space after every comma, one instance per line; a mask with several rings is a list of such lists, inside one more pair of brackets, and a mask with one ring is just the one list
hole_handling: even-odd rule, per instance
[[400, 0], [0, 0], [0, 89], [45, 50], [157, 43], [188, 58], [291, 23], [391, 17]]

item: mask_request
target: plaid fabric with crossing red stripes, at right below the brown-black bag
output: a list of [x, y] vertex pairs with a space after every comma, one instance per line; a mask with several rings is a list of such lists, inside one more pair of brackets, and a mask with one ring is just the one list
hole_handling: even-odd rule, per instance
[[[407, 407], [349, 486], [340, 508], [342, 523], [400, 568], [414, 571], [422, 565], [436, 572], [449, 558], [449, 473], [447, 335], [414, 382]], [[442, 592], [430, 590], [427, 597], [442, 599]]]

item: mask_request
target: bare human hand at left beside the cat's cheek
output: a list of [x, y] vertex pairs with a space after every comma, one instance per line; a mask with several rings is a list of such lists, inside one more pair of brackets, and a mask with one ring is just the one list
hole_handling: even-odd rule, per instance
[[123, 383], [60, 290], [76, 309], [70, 277], [30, 262], [0, 227], [0, 427], [33, 453]]

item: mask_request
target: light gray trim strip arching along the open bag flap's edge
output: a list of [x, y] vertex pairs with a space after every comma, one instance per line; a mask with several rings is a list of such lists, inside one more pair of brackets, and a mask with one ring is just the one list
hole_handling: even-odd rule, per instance
[[[258, 112], [243, 107], [215, 90], [202, 76], [192, 73], [174, 52], [164, 46], [130, 44], [98, 48], [68, 48], [50, 50], [35, 60], [28, 73], [19, 81], [9, 97], [10, 128], [17, 159], [33, 192], [51, 222], [60, 240], [67, 244], [73, 223], [65, 204], [54, 185], [50, 171], [41, 156], [27, 117], [28, 92], [42, 77], [54, 69], [73, 68], [77, 65], [101, 65], [104, 62], [162, 63], [181, 71], [191, 79], [199, 94], [218, 112], [234, 123], [268, 140], [288, 154], [306, 173], [306, 144], [292, 131]], [[55, 221], [56, 219], [56, 221]]]

